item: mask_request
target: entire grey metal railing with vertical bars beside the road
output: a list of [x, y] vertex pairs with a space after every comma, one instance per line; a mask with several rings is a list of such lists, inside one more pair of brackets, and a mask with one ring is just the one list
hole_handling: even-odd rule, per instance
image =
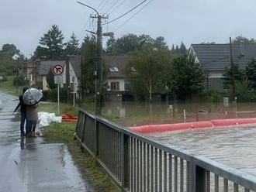
[[123, 191], [256, 191], [256, 177], [81, 109], [75, 137]]

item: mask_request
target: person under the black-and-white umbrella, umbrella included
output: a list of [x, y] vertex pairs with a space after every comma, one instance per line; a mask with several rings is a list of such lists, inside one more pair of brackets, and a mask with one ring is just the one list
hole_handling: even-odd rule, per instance
[[26, 126], [26, 132], [29, 136], [36, 136], [36, 124], [38, 122], [37, 106], [42, 98], [42, 92], [37, 90], [36, 88], [29, 88], [23, 94], [23, 101], [27, 105], [26, 118], [28, 126]]

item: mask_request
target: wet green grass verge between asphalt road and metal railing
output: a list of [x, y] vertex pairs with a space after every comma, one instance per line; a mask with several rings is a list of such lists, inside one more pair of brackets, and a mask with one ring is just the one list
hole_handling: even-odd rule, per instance
[[[54, 104], [40, 104], [40, 111], [55, 112]], [[61, 112], [77, 114], [78, 108], [71, 105], [62, 105]], [[53, 123], [43, 129], [43, 137], [46, 142], [61, 142], [69, 146], [74, 163], [79, 167], [86, 182], [92, 185], [94, 191], [120, 191], [108, 173], [93, 159], [86, 151], [82, 150], [79, 143], [74, 140], [74, 129], [76, 122]]]

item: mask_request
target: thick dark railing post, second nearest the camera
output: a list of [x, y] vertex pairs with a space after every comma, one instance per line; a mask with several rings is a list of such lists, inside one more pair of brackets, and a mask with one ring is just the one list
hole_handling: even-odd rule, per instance
[[129, 136], [122, 132], [121, 137], [121, 165], [122, 167], [122, 190], [126, 191], [125, 189], [129, 187]]

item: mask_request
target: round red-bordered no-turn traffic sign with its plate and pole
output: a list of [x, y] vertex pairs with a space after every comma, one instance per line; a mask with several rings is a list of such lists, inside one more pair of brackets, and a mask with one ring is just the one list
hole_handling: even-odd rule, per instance
[[61, 65], [54, 65], [52, 67], [52, 73], [54, 74], [54, 84], [57, 84], [57, 113], [60, 115], [60, 84], [63, 84], [63, 72], [64, 68]]

